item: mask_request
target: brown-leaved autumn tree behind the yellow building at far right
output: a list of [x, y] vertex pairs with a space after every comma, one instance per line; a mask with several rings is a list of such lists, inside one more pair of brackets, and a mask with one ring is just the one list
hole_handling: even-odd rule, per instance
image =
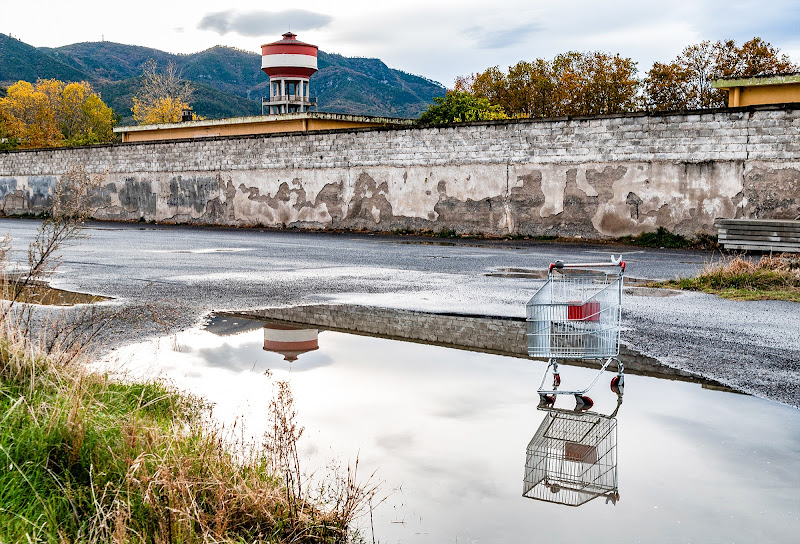
[[715, 79], [798, 69], [788, 56], [758, 37], [741, 47], [734, 40], [706, 40], [687, 46], [669, 64], [654, 63], [644, 80], [645, 101], [653, 110], [724, 107], [727, 93], [711, 87]]

